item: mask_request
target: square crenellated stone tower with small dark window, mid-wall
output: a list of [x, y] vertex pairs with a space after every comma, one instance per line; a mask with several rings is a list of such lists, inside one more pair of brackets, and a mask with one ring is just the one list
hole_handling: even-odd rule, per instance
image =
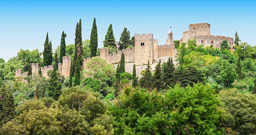
[[153, 34], [135, 34], [135, 65], [151, 65], [154, 60], [154, 39]]

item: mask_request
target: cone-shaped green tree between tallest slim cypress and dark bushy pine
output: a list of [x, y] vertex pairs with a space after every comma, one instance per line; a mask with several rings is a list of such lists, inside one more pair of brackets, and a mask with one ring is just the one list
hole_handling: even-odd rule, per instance
[[108, 32], [105, 36], [104, 47], [116, 48], [115, 37], [113, 34], [112, 24], [108, 28]]

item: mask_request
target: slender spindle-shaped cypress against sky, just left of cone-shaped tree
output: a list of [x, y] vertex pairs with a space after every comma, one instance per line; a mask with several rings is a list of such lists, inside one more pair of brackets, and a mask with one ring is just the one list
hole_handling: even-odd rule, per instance
[[91, 31], [91, 37], [90, 37], [90, 51], [91, 51], [91, 57], [96, 56], [97, 48], [98, 48], [98, 33], [97, 33], [97, 26], [96, 26], [96, 18], [93, 20], [93, 28]]

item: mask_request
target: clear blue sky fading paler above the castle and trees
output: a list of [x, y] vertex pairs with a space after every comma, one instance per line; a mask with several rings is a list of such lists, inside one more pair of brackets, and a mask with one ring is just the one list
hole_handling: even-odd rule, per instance
[[119, 41], [124, 27], [131, 36], [153, 33], [159, 45], [165, 44], [167, 33], [173, 31], [180, 40], [189, 24], [211, 24], [211, 35], [234, 37], [256, 45], [256, 2], [240, 0], [168, 0], [168, 1], [14, 1], [0, 2], [0, 58], [6, 61], [20, 49], [43, 51], [46, 33], [53, 50], [60, 44], [61, 33], [67, 34], [66, 44], [74, 44], [75, 27], [82, 19], [82, 39], [90, 39], [93, 18], [98, 29], [98, 48], [103, 47], [108, 26], [113, 25]]

